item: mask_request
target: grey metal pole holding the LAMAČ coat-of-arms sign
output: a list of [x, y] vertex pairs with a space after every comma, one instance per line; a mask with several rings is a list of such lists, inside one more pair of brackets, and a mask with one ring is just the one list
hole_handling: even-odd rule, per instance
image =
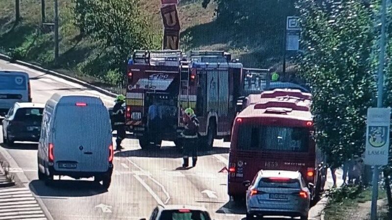
[[[385, 23], [387, 13], [387, 0], [382, 0], [381, 5], [381, 36], [380, 36], [380, 54], [378, 64], [378, 83], [377, 83], [377, 108], [383, 107], [383, 89], [384, 89], [384, 63], [385, 63]], [[377, 199], [378, 199], [378, 177], [379, 166], [373, 168], [373, 193], [371, 198], [371, 220], [377, 220]]]

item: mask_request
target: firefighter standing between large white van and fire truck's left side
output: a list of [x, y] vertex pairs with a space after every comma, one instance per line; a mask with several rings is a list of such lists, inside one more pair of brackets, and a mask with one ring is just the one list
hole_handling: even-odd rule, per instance
[[116, 151], [121, 151], [123, 147], [121, 142], [125, 138], [125, 108], [123, 104], [125, 102], [125, 96], [118, 95], [116, 98], [116, 104], [113, 107], [113, 124], [114, 130], [117, 131], [116, 139]]

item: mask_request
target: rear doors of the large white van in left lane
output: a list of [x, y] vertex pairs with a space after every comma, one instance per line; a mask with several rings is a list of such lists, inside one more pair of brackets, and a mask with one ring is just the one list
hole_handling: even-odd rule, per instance
[[59, 103], [55, 111], [55, 170], [106, 172], [112, 144], [106, 108], [97, 104]]

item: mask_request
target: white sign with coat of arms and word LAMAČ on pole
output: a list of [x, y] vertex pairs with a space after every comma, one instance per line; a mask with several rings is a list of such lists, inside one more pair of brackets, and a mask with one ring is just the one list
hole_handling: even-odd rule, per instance
[[365, 164], [388, 164], [391, 109], [369, 108], [366, 129]]

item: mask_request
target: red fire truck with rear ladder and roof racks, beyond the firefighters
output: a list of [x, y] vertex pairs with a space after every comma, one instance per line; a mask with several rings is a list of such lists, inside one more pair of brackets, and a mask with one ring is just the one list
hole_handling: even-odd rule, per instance
[[[128, 63], [126, 125], [145, 149], [152, 142], [148, 109], [159, 102], [162, 116], [160, 139], [181, 145], [182, 111], [195, 110], [206, 148], [214, 138], [230, 137], [236, 103], [241, 93], [242, 64], [231, 62], [223, 51], [135, 51]], [[157, 144], [157, 143], [155, 143]], [[159, 143], [160, 144], [160, 143]]]

